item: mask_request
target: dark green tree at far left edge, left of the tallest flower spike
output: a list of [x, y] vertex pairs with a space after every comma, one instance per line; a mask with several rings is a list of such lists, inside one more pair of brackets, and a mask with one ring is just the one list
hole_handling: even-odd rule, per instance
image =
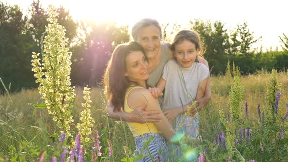
[[0, 3], [0, 77], [12, 83], [12, 90], [36, 85], [30, 70], [33, 39], [26, 21], [18, 5]]

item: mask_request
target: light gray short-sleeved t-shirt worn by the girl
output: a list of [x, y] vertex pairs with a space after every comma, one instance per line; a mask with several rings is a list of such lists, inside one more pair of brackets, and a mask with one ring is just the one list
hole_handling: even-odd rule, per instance
[[[163, 69], [162, 78], [166, 81], [162, 110], [186, 105], [194, 101], [197, 94], [198, 84], [209, 77], [209, 69], [199, 62], [194, 62], [191, 67], [183, 68], [176, 59], [167, 61]], [[175, 129], [178, 116], [171, 121]]]

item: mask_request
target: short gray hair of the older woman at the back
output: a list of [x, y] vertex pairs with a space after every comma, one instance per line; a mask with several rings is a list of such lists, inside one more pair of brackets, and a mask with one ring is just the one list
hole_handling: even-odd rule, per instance
[[159, 28], [160, 39], [162, 39], [162, 30], [161, 30], [161, 26], [160, 26], [159, 22], [157, 20], [147, 18], [147, 19], [142, 19], [142, 20], [136, 22], [135, 25], [132, 27], [131, 35], [132, 35], [133, 40], [137, 41], [137, 36], [138, 36], [139, 31], [142, 28], [150, 26], [150, 25], [154, 25], [154, 26]]

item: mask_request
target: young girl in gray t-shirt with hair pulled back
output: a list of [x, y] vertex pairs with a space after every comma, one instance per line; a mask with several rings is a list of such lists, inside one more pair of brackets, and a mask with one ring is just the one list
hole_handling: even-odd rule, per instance
[[[197, 137], [199, 119], [185, 117], [183, 113], [186, 111], [184, 105], [204, 96], [209, 77], [208, 68], [195, 62], [201, 51], [199, 35], [195, 31], [182, 30], [176, 34], [170, 48], [175, 59], [166, 62], [157, 84], [160, 91], [165, 88], [162, 110], [176, 133]], [[195, 114], [195, 109], [193, 112]]]

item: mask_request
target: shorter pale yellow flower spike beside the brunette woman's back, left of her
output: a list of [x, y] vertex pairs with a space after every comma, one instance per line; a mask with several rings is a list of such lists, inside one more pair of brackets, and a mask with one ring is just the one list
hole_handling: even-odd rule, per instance
[[84, 87], [83, 94], [85, 103], [82, 103], [82, 106], [85, 109], [80, 113], [80, 121], [82, 121], [82, 123], [77, 124], [77, 129], [82, 137], [82, 142], [84, 143], [84, 145], [88, 146], [91, 139], [89, 138], [89, 136], [92, 133], [92, 127], [95, 123], [94, 119], [91, 117], [90, 103], [92, 101], [90, 100], [90, 88], [88, 86]]

